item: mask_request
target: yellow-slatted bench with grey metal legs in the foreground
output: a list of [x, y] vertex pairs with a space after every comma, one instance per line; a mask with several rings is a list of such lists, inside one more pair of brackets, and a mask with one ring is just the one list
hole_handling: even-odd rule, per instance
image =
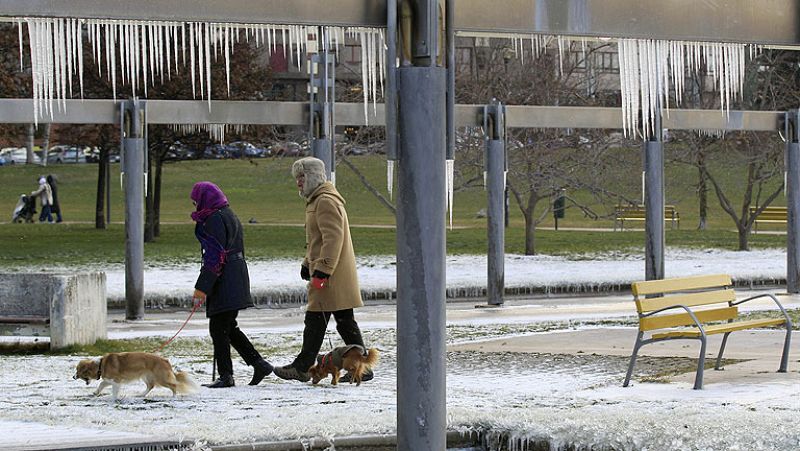
[[[636, 355], [642, 346], [664, 340], [696, 339], [700, 340], [700, 361], [697, 364], [694, 388], [701, 389], [708, 335], [724, 334], [717, 363], [714, 366], [715, 370], [719, 370], [725, 344], [731, 332], [767, 326], [786, 326], [783, 356], [778, 368], [779, 373], [786, 372], [792, 339], [792, 321], [775, 296], [760, 294], [737, 301], [731, 277], [726, 274], [634, 282], [631, 291], [636, 302], [636, 311], [639, 313], [639, 333], [623, 387], [627, 387], [630, 383]], [[762, 297], [769, 297], [775, 301], [783, 313], [783, 318], [752, 320], [739, 318], [739, 304]], [[647, 338], [645, 335], [648, 335]]]

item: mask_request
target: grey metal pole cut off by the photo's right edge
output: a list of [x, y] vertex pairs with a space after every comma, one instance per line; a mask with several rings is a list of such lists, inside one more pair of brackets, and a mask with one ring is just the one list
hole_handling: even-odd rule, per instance
[[800, 293], [800, 110], [786, 113], [786, 291]]

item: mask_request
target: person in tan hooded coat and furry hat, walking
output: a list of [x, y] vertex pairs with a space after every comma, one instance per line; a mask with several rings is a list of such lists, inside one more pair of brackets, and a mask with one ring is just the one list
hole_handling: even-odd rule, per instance
[[[300, 354], [294, 362], [276, 367], [274, 372], [282, 379], [306, 382], [311, 379], [308, 369], [316, 363], [331, 316], [345, 344], [366, 349], [353, 316], [353, 309], [364, 303], [345, 201], [326, 180], [325, 163], [313, 157], [301, 158], [292, 165], [292, 175], [306, 201], [306, 255], [300, 277], [309, 281], [308, 308]], [[341, 380], [348, 382], [348, 376]], [[373, 377], [372, 372], [365, 373], [362, 381]]]

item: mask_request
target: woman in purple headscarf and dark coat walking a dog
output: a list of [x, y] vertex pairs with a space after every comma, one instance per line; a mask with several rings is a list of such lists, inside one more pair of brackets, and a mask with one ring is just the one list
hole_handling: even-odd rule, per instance
[[234, 385], [231, 346], [253, 367], [250, 385], [257, 385], [272, 372], [272, 365], [261, 357], [236, 323], [239, 310], [253, 306], [242, 224], [217, 185], [198, 182], [192, 188], [191, 198], [196, 206], [192, 212], [192, 219], [197, 223], [194, 234], [200, 241], [203, 256], [203, 266], [194, 286], [194, 302], [206, 304], [214, 359], [219, 368], [219, 379], [207, 387]]

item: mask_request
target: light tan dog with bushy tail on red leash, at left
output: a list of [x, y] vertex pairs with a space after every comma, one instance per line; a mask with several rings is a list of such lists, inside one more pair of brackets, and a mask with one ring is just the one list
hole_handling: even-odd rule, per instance
[[145, 391], [139, 395], [142, 397], [147, 396], [155, 386], [172, 390], [172, 396], [197, 389], [197, 384], [188, 374], [174, 372], [169, 360], [147, 352], [112, 352], [98, 360], [81, 360], [73, 379], [83, 379], [86, 385], [90, 380], [100, 380], [100, 385], [94, 391], [95, 396], [110, 385], [114, 400], [118, 398], [122, 384], [138, 380], [147, 384]]

